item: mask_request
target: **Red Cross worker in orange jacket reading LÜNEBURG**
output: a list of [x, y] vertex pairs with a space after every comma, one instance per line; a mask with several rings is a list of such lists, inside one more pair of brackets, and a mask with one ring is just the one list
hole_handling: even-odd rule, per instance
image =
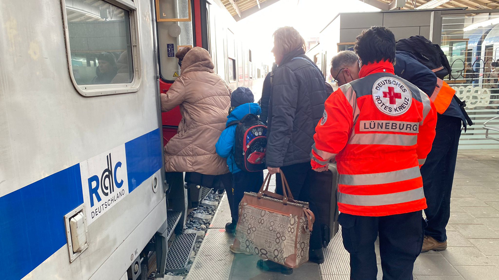
[[336, 160], [343, 245], [352, 280], [377, 275], [379, 235], [384, 280], [411, 280], [424, 237], [426, 208], [420, 166], [435, 137], [429, 97], [394, 75], [395, 37], [371, 27], [357, 37], [360, 79], [326, 101], [317, 125], [311, 165], [325, 171]]

